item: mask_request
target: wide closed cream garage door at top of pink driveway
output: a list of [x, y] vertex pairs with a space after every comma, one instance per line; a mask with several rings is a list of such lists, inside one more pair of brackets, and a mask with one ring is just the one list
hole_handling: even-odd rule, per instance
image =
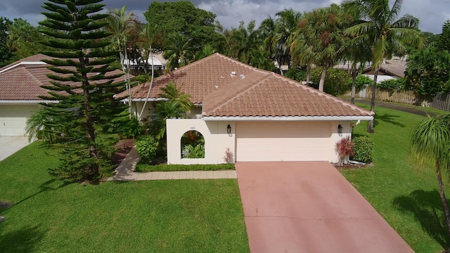
[[236, 161], [329, 161], [330, 122], [238, 122]]

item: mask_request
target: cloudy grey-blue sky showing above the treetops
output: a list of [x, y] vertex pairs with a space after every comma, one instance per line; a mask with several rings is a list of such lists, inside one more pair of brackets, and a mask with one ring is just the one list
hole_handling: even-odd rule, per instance
[[[391, 0], [391, 3], [394, 0]], [[121, 8], [127, 5], [127, 10], [136, 13], [139, 20], [145, 22], [143, 13], [152, 1], [143, 0], [104, 0], [106, 8]], [[217, 15], [217, 20], [225, 28], [238, 27], [239, 21], [247, 24], [250, 20], [256, 20], [257, 26], [264, 18], [285, 8], [293, 8], [295, 11], [311, 11], [314, 8], [329, 6], [332, 3], [339, 4], [342, 0], [195, 0], [193, 3], [198, 8], [212, 11]], [[40, 13], [41, 0], [1, 0], [0, 16], [10, 20], [23, 18], [32, 25], [44, 19]], [[450, 19], [450, 0], [404, 0], [401, 15], [409, 13], [420, 19], [420, 30], [424, 32], [440, 33], [442, 24]]]

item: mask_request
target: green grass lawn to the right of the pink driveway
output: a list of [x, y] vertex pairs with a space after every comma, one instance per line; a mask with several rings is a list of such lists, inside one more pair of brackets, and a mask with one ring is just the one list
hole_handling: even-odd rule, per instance
[[416, 252], [441, 252], [450, 243], [434, 168], [415, 169], [409, 159], [411, 129], [425, 117], [380, 107], [375, 111], [375, 134], [367, 133], [367, 122], [354, 128], [354, 135], [373, 138], [375, 166], [342, 174]]

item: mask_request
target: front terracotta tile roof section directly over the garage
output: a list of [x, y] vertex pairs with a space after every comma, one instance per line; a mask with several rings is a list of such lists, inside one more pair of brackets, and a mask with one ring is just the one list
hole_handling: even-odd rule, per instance
[[204, 117], [372, 116], [351, 105], [279, 74], [238, 79], [205, 98]]

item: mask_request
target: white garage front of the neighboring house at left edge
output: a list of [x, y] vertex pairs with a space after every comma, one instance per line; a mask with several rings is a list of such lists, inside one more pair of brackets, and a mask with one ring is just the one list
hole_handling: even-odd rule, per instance
[[0, 136], [23, 136], [25, 124], [39, 105], [0, 105]]

